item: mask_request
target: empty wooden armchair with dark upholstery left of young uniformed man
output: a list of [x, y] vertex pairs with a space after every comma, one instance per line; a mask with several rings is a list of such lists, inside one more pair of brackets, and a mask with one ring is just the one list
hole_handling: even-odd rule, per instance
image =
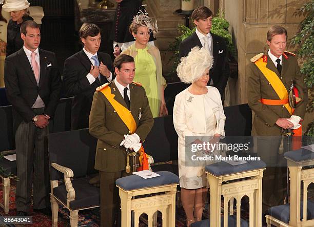
[[69, 210], [71, 227], [77, 226], [78, 211], [100, 207], [100, 189], [88, 183], [89, 175], [97, 173], [95, 151], [96, 139], [88, 129], [48, 135], [53, 226], [57, 226], [57, 203]]

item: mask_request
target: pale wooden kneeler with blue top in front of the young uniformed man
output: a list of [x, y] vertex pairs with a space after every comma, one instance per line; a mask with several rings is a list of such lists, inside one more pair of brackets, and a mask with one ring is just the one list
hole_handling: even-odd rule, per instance
[[[158, 177], [143, 179], [137, 175], [122, 177], [115, 181], [121, 199], [121, 226], [131, 226], [131, 211], [134, 211], [134, 227], [139, 226], [139, 218], [145, 213], [148, 226], [156, 223], [156, 213], [162, 213], [162, 226], [175, 226], [175, 193], [179, 177], [167, 171], [156, 172]], [[135, 198], [135, 196], [148, 195]]]

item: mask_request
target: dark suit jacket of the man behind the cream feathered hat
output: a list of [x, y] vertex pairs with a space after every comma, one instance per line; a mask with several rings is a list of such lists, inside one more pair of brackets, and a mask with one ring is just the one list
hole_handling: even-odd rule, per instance
[[[220, 95], [224, 94], [227, 85], [228, 77], [230, 75], [229, 65], [227, 64], [227, 47], [226, 41], [223, 37], [214, 35], [213, 42], [213, 66], [209, 71], [209, 76], [213, 81], [214, 87], [219, 90]], [[203, 47], [198, 35], [193, 32], [192, 35], [184, 39], [179, 47], [179, 57], [187, 56], [191, 49], [195, 46]], [[209, 85], [210, 81], [208, 82]]]

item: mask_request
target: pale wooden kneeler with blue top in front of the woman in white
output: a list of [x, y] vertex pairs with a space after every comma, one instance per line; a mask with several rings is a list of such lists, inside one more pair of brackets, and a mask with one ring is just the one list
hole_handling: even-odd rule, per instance
[[[210, 191], [210, 220], [198, 221], [191, 226], [262, 226], [264, 169], [263, 161], [248, 161], [238, 166], [231, 166], [231, 164], [221, 161], [206, 166], [205, 172]], [[223, 217], [221, 217], [221, 196], [224, 197]], [[241, 199], [244, 196], [249, 198], [249, 223], [240, 217]], [[237, 200], [236, 217], [228, 211], [228, 202], [233, 198]]]

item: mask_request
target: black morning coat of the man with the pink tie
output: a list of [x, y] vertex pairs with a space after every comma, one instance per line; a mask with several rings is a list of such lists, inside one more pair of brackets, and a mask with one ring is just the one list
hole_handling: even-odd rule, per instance
[[44, 113], [50, 117], [53, 117], [59, 101], [61, 76], [55, 55], [42, 49], [39, 49], [39, 54], [41, 72], [38, 86], [23, 48], [5, 59], [5, 87], [7, 98], [13, 106], [14, 129], [22, 120], [29, 122], [36, 116], [31, 107], [38, 94], [46, 106]]

